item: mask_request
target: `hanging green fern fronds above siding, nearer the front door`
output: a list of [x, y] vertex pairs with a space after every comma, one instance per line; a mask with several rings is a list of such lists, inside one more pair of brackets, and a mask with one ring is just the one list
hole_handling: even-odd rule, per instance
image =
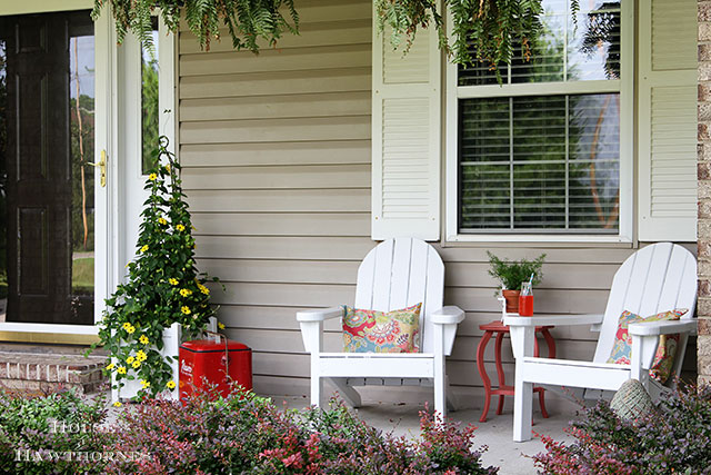
[[299, 31], [293, 0], [94, 0], [94, 20], [107, 4], [116, 20], [119, 43], [131, 31], [150, 51], [153, 51], [151, 13], [157, 9], [172, 32], [178, 32], [181, 12], [184, 13], [188, 28], [207, 50], [212, 40], [220, 39], [221, 29], [228, 30], [234, 49], [253, 52], [259, 51], [260, 39], [272, 47], [282, 33]]

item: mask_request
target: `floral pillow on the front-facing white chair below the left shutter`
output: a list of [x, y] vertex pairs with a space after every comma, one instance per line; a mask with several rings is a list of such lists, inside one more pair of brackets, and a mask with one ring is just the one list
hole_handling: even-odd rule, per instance
[[378, 311], [343, 306], [343, 352], [418, 353], [421, 307]]

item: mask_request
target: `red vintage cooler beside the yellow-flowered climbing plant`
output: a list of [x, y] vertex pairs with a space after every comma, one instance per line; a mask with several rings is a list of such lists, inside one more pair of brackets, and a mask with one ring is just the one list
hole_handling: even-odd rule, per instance
[[252, 350], [247, 345], [229, 339], [227, 345], [224, 340], [196, 339], [180, 345], [179, 357], [180, 399], [206, 383], [217, 385], [222, 396], [230, 393], [231, 382], [252, 388]]

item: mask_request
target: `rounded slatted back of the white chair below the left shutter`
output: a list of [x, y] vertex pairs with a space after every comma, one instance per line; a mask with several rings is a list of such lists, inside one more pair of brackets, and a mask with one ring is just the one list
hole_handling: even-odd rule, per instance
[[433, 350], [432, 323], [428, 316], [442, 308], [444, 264], [429, 244], [413, 238], [394, 238], [368, 253], [358, 269], [356, 307], [397, 310], [422, 303], [420, 350]]

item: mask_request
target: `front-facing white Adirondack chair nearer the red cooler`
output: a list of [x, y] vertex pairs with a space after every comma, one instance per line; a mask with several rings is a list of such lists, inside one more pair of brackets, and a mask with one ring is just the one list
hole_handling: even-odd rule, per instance
[[353, 386], [433, 385], [434, 409], [444, 414], [445, 398], [452, 403], [444, 357], [452, 350], [464, 313], [442, 307], [443, 291], [444, 265], [434, 248], [419, 239], [395, 238], [378, 245], [360, 265], [356, 308], [389, 311], [422, 303], [421, 353], [324, 353], [323, 321], [341, 318], [343, 308], [297, 313], [303, 345], [311, 354], [311, 404], [321, 405], [324, 378], [353, 407], [361, 405]]

